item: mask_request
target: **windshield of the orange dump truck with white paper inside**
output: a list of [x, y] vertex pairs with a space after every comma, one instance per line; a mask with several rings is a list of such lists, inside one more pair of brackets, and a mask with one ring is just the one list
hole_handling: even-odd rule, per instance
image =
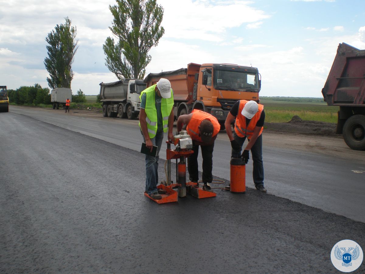
[[257, 73], [214, 70], [214, 88], [218, 90], [258, 90]]

